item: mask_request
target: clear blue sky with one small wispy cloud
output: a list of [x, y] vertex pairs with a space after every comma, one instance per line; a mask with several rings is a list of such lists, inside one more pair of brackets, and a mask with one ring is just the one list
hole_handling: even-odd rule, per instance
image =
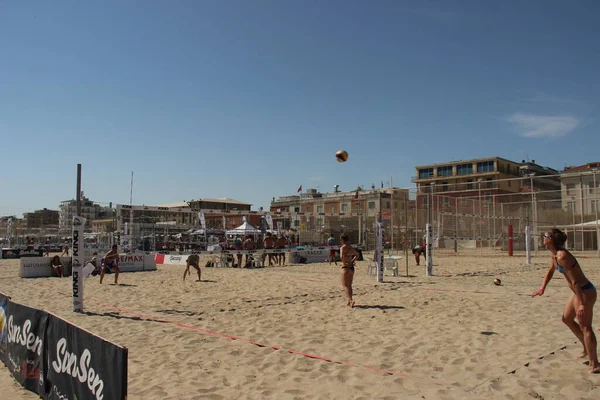
[[[600, 3], [0, 1], [0, 215], [600, 159]], [[350, 159], [337, 163], [335, 151]]]

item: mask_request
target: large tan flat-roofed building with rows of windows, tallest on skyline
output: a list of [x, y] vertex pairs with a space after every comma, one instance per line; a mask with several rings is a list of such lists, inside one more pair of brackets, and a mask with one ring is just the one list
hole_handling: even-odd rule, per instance
[[[535, 160], [517, 163], [501, 157], [477, 158], [420, 165], [416, 171], [412, 181], [417, 184], [418, 195], [435, 193], [446, 198], [493, 197], [496, 202], [512, 202], [522, 199], [519, 194], [531, 192], [532, 180], [536, 193], [554, 190], [552, 196], [557, 196], [559, 185], [558, 172], [537, 165]], [[428, 198], [417, 196], [417, 207], [426, 206]]]

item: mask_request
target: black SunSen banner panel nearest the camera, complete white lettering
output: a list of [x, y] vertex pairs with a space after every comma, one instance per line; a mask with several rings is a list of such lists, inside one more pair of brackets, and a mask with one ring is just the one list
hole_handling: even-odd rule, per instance
[[49, 314], [46, 399], [127, 398], [127, 349]]

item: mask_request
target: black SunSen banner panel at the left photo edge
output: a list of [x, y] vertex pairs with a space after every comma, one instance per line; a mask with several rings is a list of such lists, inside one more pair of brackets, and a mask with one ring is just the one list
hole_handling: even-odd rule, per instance
[[7, 302], [5, 363], [25, 389], [42, 396], [44, 389], [44, 332], [48, 313], [12, 301]]

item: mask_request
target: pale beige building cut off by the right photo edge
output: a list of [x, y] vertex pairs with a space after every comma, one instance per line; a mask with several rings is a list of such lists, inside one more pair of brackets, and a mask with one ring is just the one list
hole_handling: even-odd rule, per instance
[[595, 217], [600, 211], [600, 162], [567, 167], [560, 181], [563, 209]]

